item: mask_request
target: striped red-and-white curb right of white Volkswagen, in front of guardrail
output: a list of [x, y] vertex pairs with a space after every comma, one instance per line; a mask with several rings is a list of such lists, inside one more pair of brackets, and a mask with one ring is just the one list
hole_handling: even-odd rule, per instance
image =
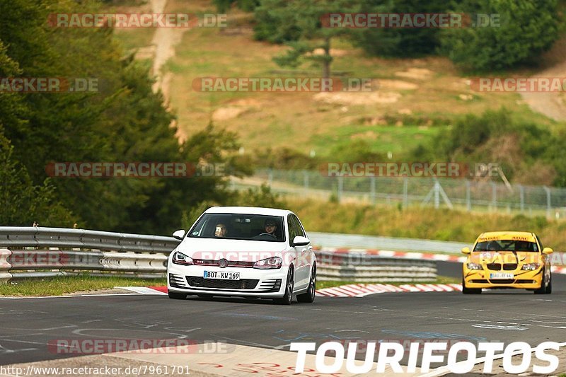
[[370, 294], [387, 294], [392, 292], [452, 292], [462, 291], [461, 284], [347, 284], [318, 289], [317, 296], [327, 297], [364, 297]]

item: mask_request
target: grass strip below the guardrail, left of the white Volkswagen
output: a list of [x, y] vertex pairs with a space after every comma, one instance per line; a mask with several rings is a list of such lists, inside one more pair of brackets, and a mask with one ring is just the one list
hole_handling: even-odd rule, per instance
[[50, 277], [0, 284], [0, 296], [61, 296], [79, 291], [98, 291], [115, 286], [160, 286], [166, 279], [136, 279], [127, 277], [91, 277], [88, 275]]

